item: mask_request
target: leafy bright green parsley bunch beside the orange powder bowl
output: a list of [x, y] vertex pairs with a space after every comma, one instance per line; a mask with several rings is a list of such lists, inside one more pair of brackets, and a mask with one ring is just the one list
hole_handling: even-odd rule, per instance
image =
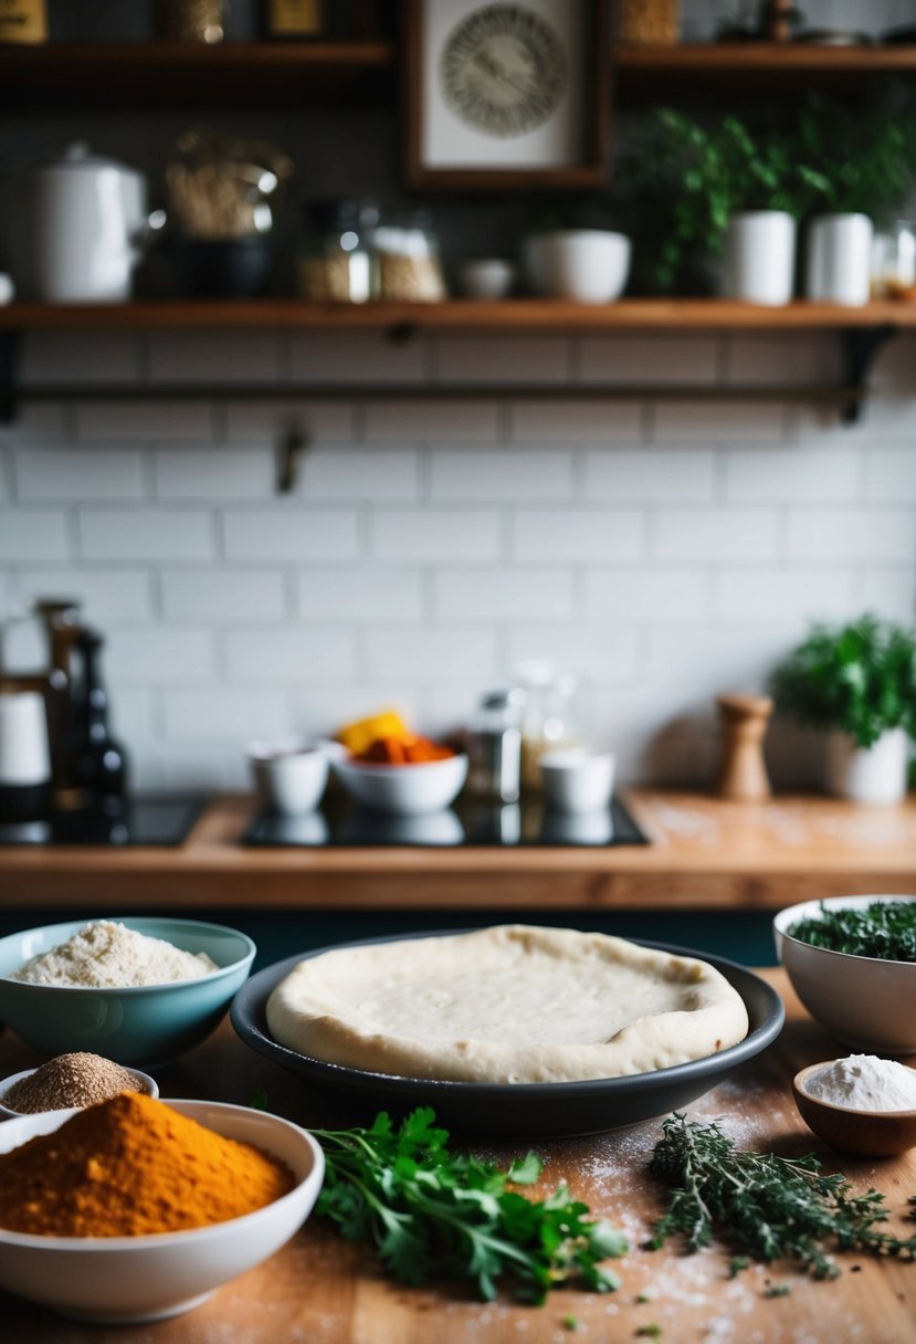
[[509, 1185], [533, 1184], [543, 1164], [528, 1153], [508, 1172], [449, 1150], [449, 1133], [430, 1106], [400, 1126], [381, 1111], [368, 1129], [313, 1129], [325, 1153], [325, 1184], [316, 1204], [348, 1241], [373, 1242], [384, 1266], [404, 1284], [470, 1278], [485, 1300], [500, 1284], [543, 1302], [551, 1288], [575, 1282], [608, 1293], [616, 1274], [600, 1262], [623, 1255], [626, 1238], [565, 1185], [533, 1200]]

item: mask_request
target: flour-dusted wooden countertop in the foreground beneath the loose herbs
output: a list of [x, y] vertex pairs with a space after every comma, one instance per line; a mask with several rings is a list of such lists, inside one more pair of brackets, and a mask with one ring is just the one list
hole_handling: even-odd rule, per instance
[[[688, 1107], [696, 1120], [721, 1120], [740, 1146], [800, 1154], [815, 1152], [825, 1169], [842, 1171], [856, 1185], [876, 1185], [888, 1199], [888, 1227], [904, 1235], [912, 1224], [897, 1215], [916, 1192], [916, 1150], [900, 1159], [841, 1160], [800, 1121], [790, 1093], [791, 1075], [806, 1063], [830, 1059], [837, 1043], [821, 1031], [787, 988], [782, 970], [763, 972], [783, 995], [787, 1024], [758, 1059]], [[0, 1038], [0, 1077], [35, 1059], [8, 1035]], [[248, 1103], [261, 1087], [270, 1109], [304, 1124], [317, 1117], [317, 1098], [278, 1066], [250, 1052], [223, 1023], [215, 1036], [157, 1079], [164, 1097], [208, 1097]], [[408, 1289], [384, 1279], [368, 1250], [349, 1246], [313, 1219], [271, 1259], [220, 1289], [187, 1316], [152, 1327], [101, 1329], [64, 1321], [0, 1294], [0, 1344], [563, 1344], [582, 1337], [598, 1344], [638, 1337], [639, 1327], [661, 1327], [661, 1340], [689, 1344], [912, 1344], [916, 1339], [916, 1263], [838, 1257], [842, 1274], [814, 1282], [778, 1262], [728, 1277], [729, 1253], [711, 1247], [681, 1255], [676, 1247], [641, 1249], [663, 1193], [646, 1164], [661, 1134], [658, 1121], [591, 1138], [553, 1140], [533, 1146], [547, 1159], [551, 1188], [568, 1181], [595, 1215], [622, 1227], [633, 1250], [615, 1262], [618, 1293], [555, 1292], [543, 1308], [518, 1306], [508, 1297], [482, 1304], [466, 1292]], [[532, 1146], [486, 1144], [504, 1163]], [[767, 1298], [767, 1286], [788, 1296]], [[647, 1302], [639, 1302], [641, 1294]], [[579, 1329], [564, 1328], [575, 1317]]]

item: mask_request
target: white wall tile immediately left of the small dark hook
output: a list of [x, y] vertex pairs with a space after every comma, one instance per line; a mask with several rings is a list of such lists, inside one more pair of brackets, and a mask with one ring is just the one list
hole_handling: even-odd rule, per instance
[[156, 495], [164, 500], [263, 500], [277, 491], [270, 449], [158, 449]]

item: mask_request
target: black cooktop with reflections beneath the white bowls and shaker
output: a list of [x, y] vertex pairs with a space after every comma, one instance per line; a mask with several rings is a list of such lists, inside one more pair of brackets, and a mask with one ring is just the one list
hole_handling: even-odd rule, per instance
[[539, 800], [504, 806], [459, 798], [443, 812], [416, 817], [388, 816], [330, 793], [304, 817], [261, 812], [242, 839], [247, 845], [340, 849], [349, 845], [419, 845], [537, 848], [649, 844], [616, 798], [598, 813], [549, 812]]

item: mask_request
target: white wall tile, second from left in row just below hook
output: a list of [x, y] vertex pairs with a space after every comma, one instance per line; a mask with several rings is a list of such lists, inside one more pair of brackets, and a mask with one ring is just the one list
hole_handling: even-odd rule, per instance
[[79, 509], [85, 560], [212, 560], [214, 519], [201, 509]]

